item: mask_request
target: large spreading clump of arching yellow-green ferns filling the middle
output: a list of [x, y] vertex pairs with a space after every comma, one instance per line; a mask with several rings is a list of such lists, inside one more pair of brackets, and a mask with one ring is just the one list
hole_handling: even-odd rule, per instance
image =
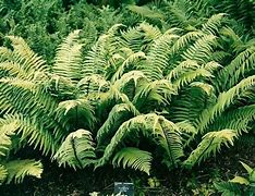
[[9, 37], [0, 109], [19, 122], [20, 145], [60, 166], [149, 174], [157, 157], [168, 170], [192, 168], [252, 133], [254, 46], [240, 38], [242, 47], [230, 50], [238, 35], [224, 20], [212, 15], [185, 30], [117, 24], [85, 56], [75, 30], [52, 65]]

